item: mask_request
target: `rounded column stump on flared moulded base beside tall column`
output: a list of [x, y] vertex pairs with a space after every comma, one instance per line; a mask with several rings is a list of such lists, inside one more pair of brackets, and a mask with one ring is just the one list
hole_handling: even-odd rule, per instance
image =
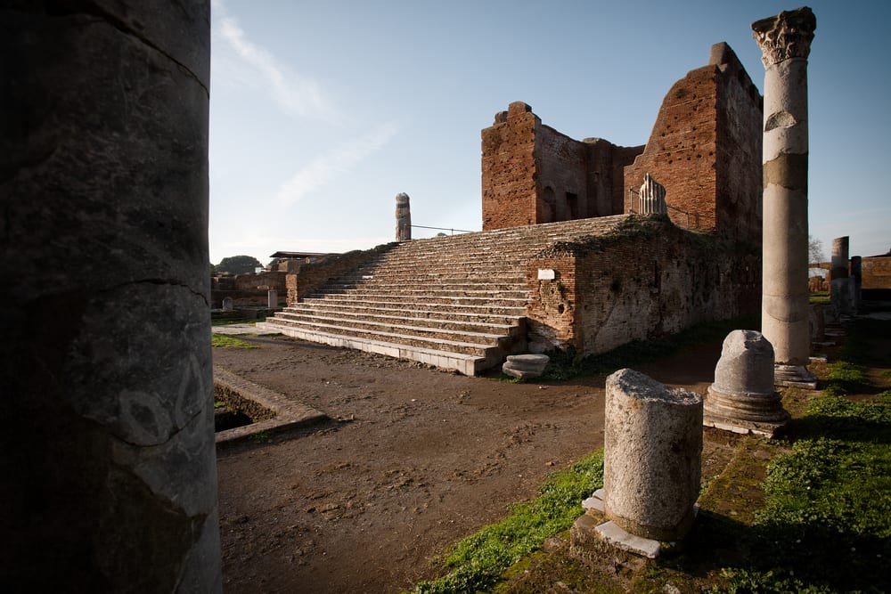
[[703, 424], [773, 437], [789, 423], [774, 389], [773, 347], [760, 332], [733, 330], [724, 338]]

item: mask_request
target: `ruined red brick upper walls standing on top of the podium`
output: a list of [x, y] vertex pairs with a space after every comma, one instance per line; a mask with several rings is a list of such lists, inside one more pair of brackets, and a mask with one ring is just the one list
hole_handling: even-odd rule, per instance
[[645, 146], [576, 141], [511, 103], [482, 132], [483, 230], [633, 213], [649, 173], [674, 224], [760, 243], [762, 118], [761, 95], [723, 43], [668, 91]]

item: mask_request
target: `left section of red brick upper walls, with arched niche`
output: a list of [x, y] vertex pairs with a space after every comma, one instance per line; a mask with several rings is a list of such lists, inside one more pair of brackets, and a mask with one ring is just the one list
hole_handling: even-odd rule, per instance
[[573, 140], [511, 103], [482, 131], [483, 230], [621, 214], [624, 168], [642, 150]]

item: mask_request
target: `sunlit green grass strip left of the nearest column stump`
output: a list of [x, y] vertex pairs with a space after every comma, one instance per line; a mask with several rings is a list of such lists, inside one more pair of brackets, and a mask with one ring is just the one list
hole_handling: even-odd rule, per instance
[[462, 594], [486, 590], [509, 566], [568, 529], [582, 515], [581, 502], [603, 484], [603, 452], [594, 452], [567, 470], [554, 473], [535, 500], [511, 506], [497, 524], [459, 541], [443, 559], [448, 574], [421, 582], [416, 594]]

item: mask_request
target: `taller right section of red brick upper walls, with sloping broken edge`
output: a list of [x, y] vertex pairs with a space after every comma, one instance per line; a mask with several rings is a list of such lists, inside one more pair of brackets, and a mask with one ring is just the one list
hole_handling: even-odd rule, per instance
[[[666, 187], [675, 224], [761, 242], [762, 98], [736, 54], [712, 46], [707, 66], [668, 91], [650, 141], [625, 167], [631, 185], [647, 173]], [[625, 212], [637, 210], [625, 194]]]

